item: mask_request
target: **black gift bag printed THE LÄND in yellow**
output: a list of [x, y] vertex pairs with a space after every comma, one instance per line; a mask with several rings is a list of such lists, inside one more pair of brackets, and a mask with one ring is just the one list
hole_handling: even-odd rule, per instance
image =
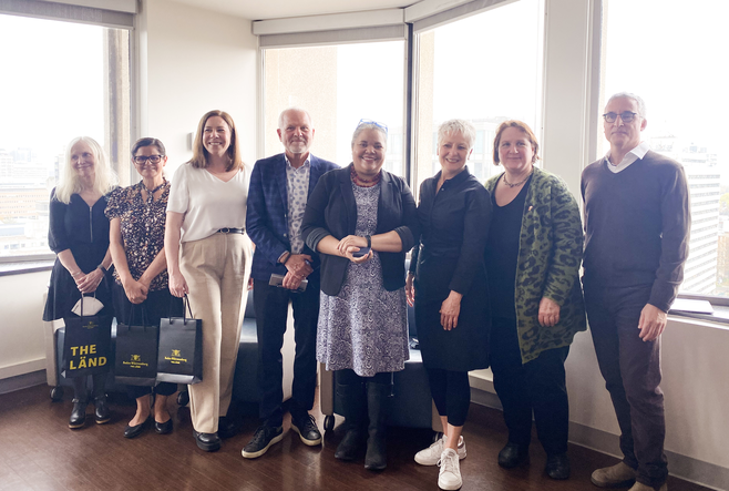
[[83, 301], [81, 316], [63, 318], [63, 377], [85, 377], [105, 374], [111, 365], [113, 316], [84, 316]]

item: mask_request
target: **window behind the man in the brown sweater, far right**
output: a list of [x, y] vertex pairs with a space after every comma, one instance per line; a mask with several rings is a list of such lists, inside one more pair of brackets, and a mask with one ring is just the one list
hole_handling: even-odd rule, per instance
[[[713, 1], [606, 0], [604, 10], [600, 109], [613, 93], [639, 94], [644, 141], [688, 177], [692, 226], [681, 293], [729, 296], [727, 16], [729, 4]], [[602, 132], [598, 142], [604, 155]]]

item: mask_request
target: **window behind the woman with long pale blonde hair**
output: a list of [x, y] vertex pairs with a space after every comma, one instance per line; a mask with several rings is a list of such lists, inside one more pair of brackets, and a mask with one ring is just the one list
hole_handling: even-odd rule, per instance
[[65, 145], [88, 135], [129, 185], [130, 35], [0, 14], [0, 260], [50, 253], [48, 204]]

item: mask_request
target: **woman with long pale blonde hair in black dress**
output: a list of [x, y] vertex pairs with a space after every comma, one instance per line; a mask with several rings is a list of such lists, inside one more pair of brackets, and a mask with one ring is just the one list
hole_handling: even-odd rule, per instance
[[[112, 258], [104, 209], [106, 194], [115, 182], [116, 176], [99, 143], [88, 136], [69, 143], [61, 183], [51, 192], [48, 244], [57, 258], [43, 320], [70, 316], [82, 294], [95, 293], [96, 299], [104, 304], [99, 315], [112, 313], [109, 272]], [[94, 418], [103, 424], [110, 420], [104, 393], [106, 374], [92, 378]], [[88, 402], [86, 377], [76, 377], [73, 379], [73, 410], [69, 428], [83, 427]]]

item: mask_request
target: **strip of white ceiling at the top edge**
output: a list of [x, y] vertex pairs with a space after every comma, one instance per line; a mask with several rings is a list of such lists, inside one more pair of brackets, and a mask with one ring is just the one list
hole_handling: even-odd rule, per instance
[[419, 0], [173, 0], [250, 20], [408, 7]]

